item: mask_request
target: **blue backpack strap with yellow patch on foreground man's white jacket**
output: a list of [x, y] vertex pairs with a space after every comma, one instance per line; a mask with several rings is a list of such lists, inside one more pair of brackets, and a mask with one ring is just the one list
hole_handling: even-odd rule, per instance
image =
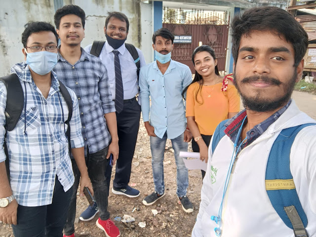
[[[308, 236], [305, 230], [308, 220], [295, 189], [290, 170], [290, 153], [296, 135], [311, 125], [316, 123], [283, 129], [271, 148], [266, 169], [266, 190], [273, 207], [284, 224], [294, 230], [295, 236], [302, 237]], [[289, 209], [296, 216], [287, 215], [287, 212], [291, 212]]]

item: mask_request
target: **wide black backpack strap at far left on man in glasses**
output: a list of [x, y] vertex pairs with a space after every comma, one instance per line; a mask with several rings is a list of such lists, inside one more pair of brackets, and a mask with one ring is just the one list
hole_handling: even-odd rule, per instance
[[12, 131], [21, 117], [24, 106], [23, 89], [19, 77], [11, 74], [0, 78], [6, 90], [5, 126], [7, 131]]

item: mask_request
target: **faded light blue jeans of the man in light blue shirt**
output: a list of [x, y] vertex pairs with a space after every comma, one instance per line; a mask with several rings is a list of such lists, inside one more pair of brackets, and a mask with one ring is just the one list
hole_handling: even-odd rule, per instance
[[[179, 157], [180, 152], [188, 151], [188, 143], [183, 141], [184, 133], [180, 136], [171, 139], [172, 148], [174, 150], [174, 158], [177, 165], [177, 195], [183, 197], [187, 194], [189, 187], [188, 169], [186, 168], [182, 157]], [[155, 191], [162, 195], [164, 194], [164, 177], [163, 177], [163, 158], [164, 149], [167, 141], [167, 132], [162, 138], [150, 137], [150, 149], [152, 151], [152, 166], [155, 183]]]

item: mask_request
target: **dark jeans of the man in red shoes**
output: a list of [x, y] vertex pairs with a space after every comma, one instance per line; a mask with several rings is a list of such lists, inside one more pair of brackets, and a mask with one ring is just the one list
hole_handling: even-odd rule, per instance
[[[85, 158], [85, 163], [88, 168], [89, 178], [94, 191], [94, 198], [99, 206], [99, 217], [101, 220], [107, 220], [110, 218], [110, 213], [108, 212], [108, 185], [105, 178], [105, 171], [107, 166], [110, 166], [110, 159], [107, 159], [108, 147], [89, 154], [87, 149], [87, 157]], [[66, 236], [71, 236], [75, 233], [75, 218], [76, 218], [76, 201], [77, 201], [77, 190], [79, 186], [80, 172], [76, 164], [75, 159], [72, 159], [73, 170], [75, 175], [74, 192], [71, 197], [70, 207], [67, 214], [67, 221], [64, 226], [64, 233]]]

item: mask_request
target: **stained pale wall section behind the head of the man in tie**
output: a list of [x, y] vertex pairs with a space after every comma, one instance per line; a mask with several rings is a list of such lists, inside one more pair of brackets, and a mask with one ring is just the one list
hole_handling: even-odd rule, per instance
[[[105, 40], [103, 27], [108, 11], [120, 11], [124, 13], [129, 20], [129, 32], [127, 43], [134, 44], [140, 48], [145, 56], [146, 63], [152, 58], [152, 4], [136, 3], [134, 0], [64, 0], [65, 4], [79, 5], [86, 15], [85, 38], [81, 45], [85, 47], [91, 44], [93, 40]], [[137, 7], [140, 4], [140, 9]], [[138, 12], [141, 14], [139, 15]], [[138, 25], [140, 21], [140, 41], [138, 40]]]

